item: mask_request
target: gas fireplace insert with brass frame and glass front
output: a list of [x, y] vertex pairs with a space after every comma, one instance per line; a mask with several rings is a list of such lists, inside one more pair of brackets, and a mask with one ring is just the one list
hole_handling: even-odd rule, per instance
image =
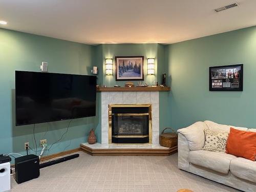
[[109, 143], [152, 143], [151, 104], [109, 104]]

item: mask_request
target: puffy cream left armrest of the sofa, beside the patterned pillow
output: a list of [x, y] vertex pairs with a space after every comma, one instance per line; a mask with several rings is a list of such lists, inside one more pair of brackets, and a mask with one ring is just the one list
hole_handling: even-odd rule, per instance
[[187, 139], [190, 151], [202, 150], [205, 142], [204, 129], [207, 129], [207, 125], [198, 121], [186, 128], [179, 129], [178, 133]]

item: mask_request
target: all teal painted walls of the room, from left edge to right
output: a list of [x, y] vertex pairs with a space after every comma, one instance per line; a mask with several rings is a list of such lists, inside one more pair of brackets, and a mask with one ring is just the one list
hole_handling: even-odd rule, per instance
[[[14, 124], [14, 72], [40, 71], [41, 61], [48, 61], [49, 72], [91, 74], [98, 67], [97, 83], [113, 87], [113, 76], [105, 75], [105, 58], [144, 56], [144, 82], [161, 82], [167, 73], [170, 92], [159, 93], [160, 131], [164, 127], [179, 129], [196, 121], [212, 120], [237, 126], [255, 127], [254, 74], [256, 71], [256, 27], [211, 35], [172, 45], [103, 44], [89, 46], [75, 42], [0, 29], [0, 153], [25, 153], [24, 142], [34, 148], [33, 125]], [[148, 57], [155, 58], [155, 75], [147, 75]], [[209, 92], [210, 66], [244, 63], [243, 92]], [[123, 86], [125, 81], [117, 81]], [[136, 84], [137, 81], [134, 81]], [[95, 129], [101, 142], [101, 94], [97, 93], [96, 117], [74, 119], [67, 135], [48, 154], [70, 150], [85, 142], [90, 129]], [[36, 124], [36, 141], [51, 144], [67, 129], [69, 121]], [[31, 151], [32, 153], [32, 151]]]

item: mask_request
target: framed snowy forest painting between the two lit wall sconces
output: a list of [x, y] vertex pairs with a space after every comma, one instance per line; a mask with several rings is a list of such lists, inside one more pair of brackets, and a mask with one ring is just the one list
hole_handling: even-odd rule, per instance
[[116, 80], [144, 80], [144, 56], [116, 57]]

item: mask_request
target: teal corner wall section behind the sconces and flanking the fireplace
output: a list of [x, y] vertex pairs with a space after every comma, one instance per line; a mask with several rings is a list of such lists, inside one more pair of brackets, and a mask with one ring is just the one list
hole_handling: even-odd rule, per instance
[[[157, 81], [161, 83], [161, 74], [167, 72], [167, 65], [165, 64], [165, 46], [161, 44], [103, 44], [97, 46], [98, 60], [101, 59], [101, 67], [99, 71], [102, 70], [102, 73], [98, 74], [101, 77], [99, 80], [99, 85], [103, 84], [107, 87], [113, 87], [118, 83], [119, 86], [123, 87], [125, 81], [116, 81], [115, 77], [115, 56], [144, 56], [144, 83], [148, 83], [150, 86], [155, 84]], [[105, 59], [113, 58], [113, 75], [105, 75]], [[155, 58], [155, 75], [147, 75], [147, 58]], [[98, 65], [100, 66], [100, 65]], [[133, 81], [136, 85], [138, 81]], [[169, 125], [169, 119], [167, 117], [167, 108], [166, 101], [168, 100], [169, 92], [160, 92], [159, 93], [159, 103], [162, 111], [159, 112], [160, 118], [160, 130]], [[100, 94], [99, 94], [100, 98]], [[99, 100], [100, 101], [100, 100]], [[99, 103], [99, 108], [100, 108]], [[99, 114], [100, 116], [101, 114]], [[96, 135], [98, 142], [101, 142], [101, 121], [96, 127]]]

